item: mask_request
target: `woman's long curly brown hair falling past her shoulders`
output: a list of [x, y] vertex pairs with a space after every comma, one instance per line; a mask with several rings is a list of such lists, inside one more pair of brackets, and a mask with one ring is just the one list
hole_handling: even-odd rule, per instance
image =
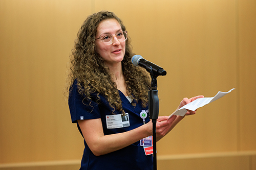
[[[101, 11], [88, 16], [83, 22], [70, 56], [71, 66], [68, 75], [68, 86], [71, 87], [76, 79], [78, 92], [85, 98], [90, 100], [91, 94], [96, 93], [97, 102], [99, 102], [99, 94], [102, 94], [113, 108], [113, 114], [115, 110], [119, 110], [123, 114], [122, 101], [117, 86], [112, 80], [109, 68], [104, 65], [104, 60], [96, 52], [95, 47], [95, 35], [99, 23], [102, 20], [112, 18], [119, 22], [123, 31], [126, 31], [123, 22], [113, 12]], [[148, 104], [147, 92], [150, 88], [150, 76], [144, 69], [132, 64], [131, 58], [133, 55], [130, 37], [128, 37], [125, 41], [125, 54], [121, 62], [127, 85], [126, 90], [127, 94], [135, 100], [132, 103], [133, 106], [136, 106], [140, 100], [145, 108]]]

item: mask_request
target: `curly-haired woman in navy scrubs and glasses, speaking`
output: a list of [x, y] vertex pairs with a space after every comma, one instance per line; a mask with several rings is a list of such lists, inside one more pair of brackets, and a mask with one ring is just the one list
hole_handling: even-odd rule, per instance
[[[131, 49], [122, 21], [112, 12], [89, 16], [78, 33], [69, 75], [69, 107], [72, 122], [84, 138], [80, 169], [153, 168], [152, 155], [145, 155], [140, 145], [140, 140], [152, 135], [146, 114], [150, 77], [132, 64]], [[184, 98], [178, 109], [201, 97]], [[160, 116], [157, 140], [182, 118]]]

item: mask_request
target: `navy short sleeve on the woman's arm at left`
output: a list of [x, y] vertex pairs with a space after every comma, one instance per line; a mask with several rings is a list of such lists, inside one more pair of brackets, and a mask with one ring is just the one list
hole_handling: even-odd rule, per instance
[[77, 89], [77, 81], [74, 81], [70, 88], [69, 94], [69, 110], [72, 123], [77, 123], [77, 120], [101, 118], [99, 106], [96, 102], [84, 99]]

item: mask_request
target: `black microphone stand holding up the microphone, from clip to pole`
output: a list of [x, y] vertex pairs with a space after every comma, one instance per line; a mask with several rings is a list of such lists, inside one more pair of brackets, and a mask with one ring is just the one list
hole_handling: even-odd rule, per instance
[[153, 123], [153, 169], [157, 169], [157, 139], [156, 139], [156, 123], [159, 114], [159, 99], [157, 90], [157, 77], [158, 75], [151, 74], [151, 89], [148, 91], [148, 111], [149, 117]]

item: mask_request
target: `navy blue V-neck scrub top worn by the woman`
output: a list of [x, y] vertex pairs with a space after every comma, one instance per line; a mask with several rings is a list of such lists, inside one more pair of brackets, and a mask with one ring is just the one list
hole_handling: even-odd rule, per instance
[[[101, 118], [104, 135], [130, 131], [143, 125], [143, 119], [140, 117], [139, 114], [142, 110], [148, 110], [148, 107], [143, 108], [141, 106], [141, 102], [138, 102], [136, 107], [132, 106], [130, 101], [127, 100], [126, 96], [121, 91], [119, 91], [123, 110], [125, 113], [129, 113], [130, 126], [124, 128], [108, 129], [106, 127], [106, 115], [113, 115], [113, 109], [110, 107], [108, 101], [106, 101], [104, 96], [101, 94], [99, 95], [99, 104], [96, 103], [96, 94], [92, 94], [92, 101], [84, 99], [84, 97], [78, 93], [76, 84], [77, 82], [74, 81], [71, 88], [72, 90], [69, 96], [69, 108], [72, 123], [77, 124], [80, 133], [81, 130], [77, 123], [77, 120], [80, 119]], [[121, 112], [117, 110], [115, 110], [114, 113], [121, 114]], [[145, 118], [145, 121], [146, 123], [150, 121], [148, 116]], [[121, 150], [101, 156], [95, 156], [89, 149], [86, 141], [84, 140], [84, 151], [80, 169], [153, 169], [153, 156], [145, 155], [144, 149], [140, 146], [139, 141]]]

